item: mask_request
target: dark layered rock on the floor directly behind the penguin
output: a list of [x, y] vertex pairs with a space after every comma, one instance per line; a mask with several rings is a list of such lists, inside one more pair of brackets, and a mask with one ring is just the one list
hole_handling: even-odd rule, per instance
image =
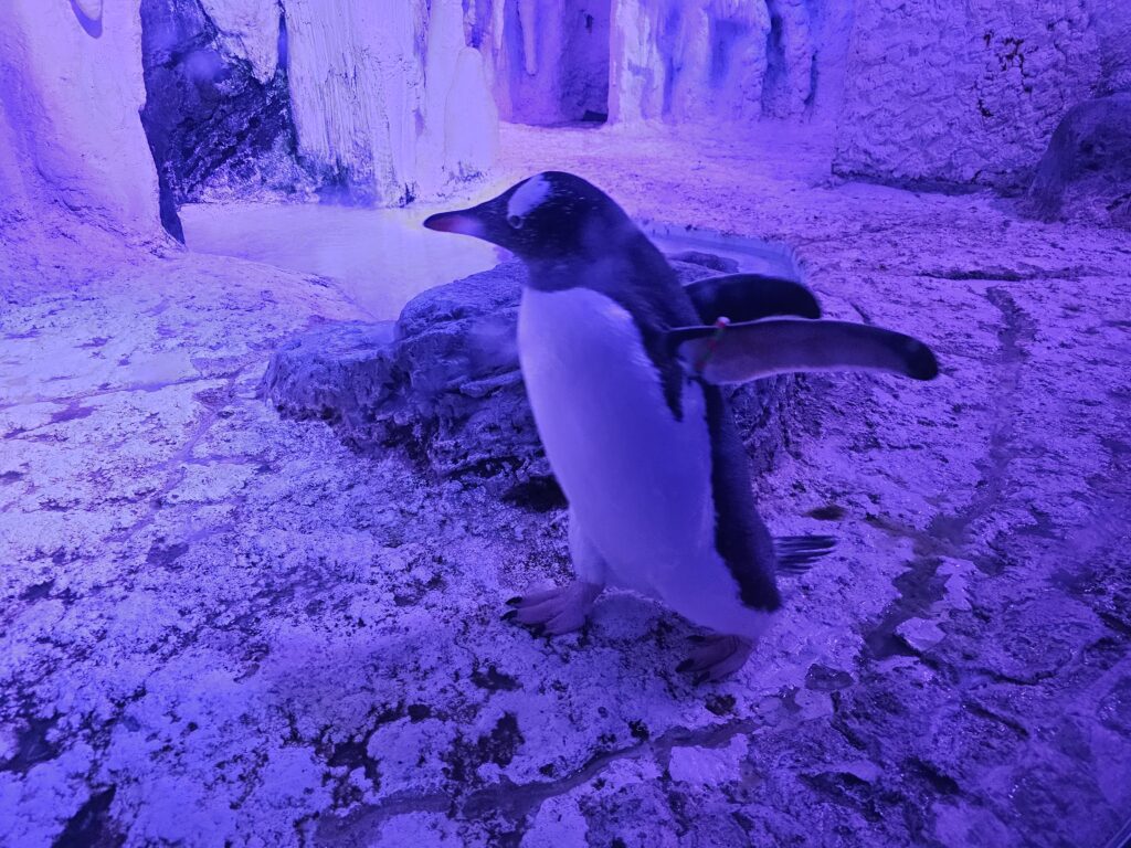
[[[671, 260], [684, 282], [734, 270], [709, 253]], [[561, 494], [518, 367], [525, 274], [520, 262], [504, 262], [423, 292], [396, 322], [318, 326], [271, 355], [261, 391], [280, 414], [325, 421], [362, 452], [399, 447], [440, 476], [487, 482], [535, 508], [556, 505]], [[792, 384], [761, 381], [733, 395], [762, 465], [782, 445]]]

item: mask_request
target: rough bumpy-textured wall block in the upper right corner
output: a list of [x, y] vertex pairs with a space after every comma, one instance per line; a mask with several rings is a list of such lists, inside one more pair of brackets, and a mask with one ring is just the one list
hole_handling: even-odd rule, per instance
[[[856, 0], [835, 170], [1024, 184], [1068, 105], [1100, 84], [1104, 51], [1087, 6]], [[1125, 3], [1107, 6], [1128, 18]]]

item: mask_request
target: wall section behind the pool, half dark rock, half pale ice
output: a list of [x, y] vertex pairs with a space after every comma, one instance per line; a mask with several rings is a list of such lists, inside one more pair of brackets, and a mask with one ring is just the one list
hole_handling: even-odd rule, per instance
[[178, 200], [260, 187], [396, 206], [494, 161], [461, 0], [144, 5], [150, 138]]

